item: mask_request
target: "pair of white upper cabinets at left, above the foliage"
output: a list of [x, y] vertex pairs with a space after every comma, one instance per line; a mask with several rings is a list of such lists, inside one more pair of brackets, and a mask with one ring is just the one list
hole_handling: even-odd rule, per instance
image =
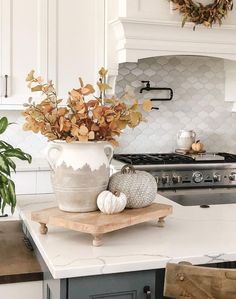
[[[0, 109], [22, 109], [34, 69], [60, 97], [104, 65], [104, 0], [0, 0]], [[35, 94], [36, 96], [36, 94]]]

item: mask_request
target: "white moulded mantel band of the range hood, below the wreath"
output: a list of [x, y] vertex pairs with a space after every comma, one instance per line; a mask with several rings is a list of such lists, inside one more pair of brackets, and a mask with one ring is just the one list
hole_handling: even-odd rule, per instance
[[212, 29], [180, 22], [118, 18], [111, 21], [118, 63], [163, 55], [204, 55], [236, 61], [236, 25]]

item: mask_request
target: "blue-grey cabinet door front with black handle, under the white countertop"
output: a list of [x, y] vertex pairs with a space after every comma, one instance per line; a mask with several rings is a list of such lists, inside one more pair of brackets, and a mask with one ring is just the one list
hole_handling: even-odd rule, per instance
[[155, 271], [72, 278], [68, 294], [68, 299], [155, 299]]

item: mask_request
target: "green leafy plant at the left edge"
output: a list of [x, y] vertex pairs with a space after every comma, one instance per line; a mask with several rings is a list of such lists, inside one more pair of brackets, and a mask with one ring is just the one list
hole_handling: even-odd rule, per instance
[[[10, 124], [6, 117], [0, 118], [0, 135]], [[3, 215], [6, 205], [11, 207], [12, 214], [16, 206], [15, 184], [11, 179], [11, 171], [16, 171], [14, 158], [31, 163], [31, 156], [20, 148], [14, 148], [6, 141], [0, 140], [0, 209]]]

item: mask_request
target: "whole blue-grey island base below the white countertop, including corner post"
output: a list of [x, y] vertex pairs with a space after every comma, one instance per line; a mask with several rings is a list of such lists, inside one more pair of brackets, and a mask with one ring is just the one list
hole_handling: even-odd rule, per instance
[[155, 299], [155, 288], [154, 270], [60, 280], [49, 273], [44, 277], [44, 299]]

